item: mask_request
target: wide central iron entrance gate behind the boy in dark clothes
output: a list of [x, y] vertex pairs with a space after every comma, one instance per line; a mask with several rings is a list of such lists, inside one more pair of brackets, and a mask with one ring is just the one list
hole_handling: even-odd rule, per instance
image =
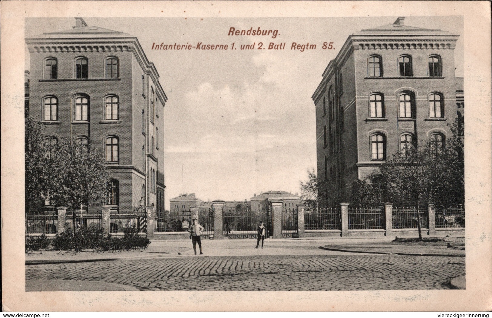
[[249, 211], [246, 209], [224, 209], [224, 236], [228, 238], [256, 238], [260, 222], [265, 222], [268, 235], [272, 235], [270, 209]]

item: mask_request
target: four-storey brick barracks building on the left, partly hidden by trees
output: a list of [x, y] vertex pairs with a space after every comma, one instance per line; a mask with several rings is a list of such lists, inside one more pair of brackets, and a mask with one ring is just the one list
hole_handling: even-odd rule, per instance
[[29, 114], [46, 126], [46, 138], [90, 141], [104, 151], [112, 218], [140, 205], [153, 216], [163, 211], [165, 188], [167, 97], [159, 73], [136, 37], [75, 19], [73, 29], [26, 39]]

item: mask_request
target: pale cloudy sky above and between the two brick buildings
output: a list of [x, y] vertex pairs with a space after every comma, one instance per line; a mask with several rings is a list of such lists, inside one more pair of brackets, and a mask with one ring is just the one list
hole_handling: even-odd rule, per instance
[[[202, 200], [244, 200], [261, 191], [300, 192], [316, 168], [311, 96], [328, 62], [348, 35], [393, 23], [397, 17], [361, 18], [85, 18], [89, 26], [138, 37], [160, 74], [164, 108], [165, 203], [180, 193]], [[407, 17], [405, 25], [462, 34], [461, 17]], [[71, 29], [71, 18], [28, 18], [26, 37]], [[270, 36], [229, 36], [236, 29], [278, 30]], [[228, 44], [237, 50], [151, 50], [160, 44]], [[258, 42], [265, 50], [258, 50]], [[268, 44], [286, 43], [284, 50]], [[292, 42], [316, 50], [290, 50]], [[334, 50], [323, 50], [333, 42]], [[240, 45], [255, 43], [253, 50]], [[27, 55], [28, 56], [28, 55]], [[462, 39], [455, 49], [463, 74]], [[29, 67], [28, 61], [26, 67]], [[28, 68], [27, 68], [28, 69]]]

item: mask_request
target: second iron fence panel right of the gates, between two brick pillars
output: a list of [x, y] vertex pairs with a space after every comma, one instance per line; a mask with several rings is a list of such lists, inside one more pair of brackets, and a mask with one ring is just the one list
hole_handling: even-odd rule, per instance
[[385, 227], [384, 206], [348, 208], [349, 230], [373, 230]]

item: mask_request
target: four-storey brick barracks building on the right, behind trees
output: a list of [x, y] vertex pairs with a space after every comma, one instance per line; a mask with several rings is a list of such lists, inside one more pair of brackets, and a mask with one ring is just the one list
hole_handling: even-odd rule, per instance
[[378, 166], [405, 144], [444, 145], [447, 124], [462, 115], [459, 35], [403, 20], [350, 35], [312, 95], [319, 195], [327, 204], [348, 199], [356, 179], [378, 182]]

